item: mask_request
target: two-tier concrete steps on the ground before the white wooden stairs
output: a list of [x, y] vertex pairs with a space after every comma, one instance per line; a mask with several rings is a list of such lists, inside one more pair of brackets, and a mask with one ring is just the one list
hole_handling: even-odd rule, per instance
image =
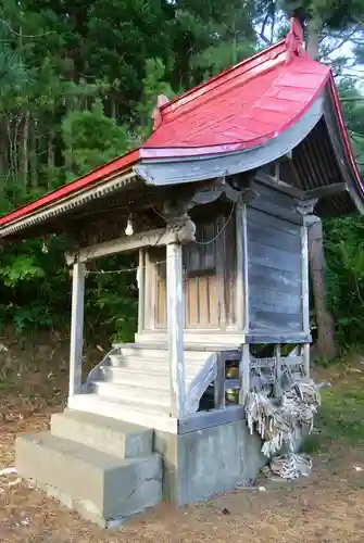
[[51, 431], [16, 440], [16, 467], [25, 479], [103, 528], [162, 500], [162, 458], [153, 430], [66, 409]]

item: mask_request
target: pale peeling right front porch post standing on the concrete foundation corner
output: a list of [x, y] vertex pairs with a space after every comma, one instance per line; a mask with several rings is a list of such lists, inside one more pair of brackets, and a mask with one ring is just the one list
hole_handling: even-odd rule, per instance
[[183, 250], [179, 243], [166, 248], [167, 268], [167, 326], [171, 371], [172, 417], [181, 419], [185, 414], [185, 366], [184, 366], [184, 285]]

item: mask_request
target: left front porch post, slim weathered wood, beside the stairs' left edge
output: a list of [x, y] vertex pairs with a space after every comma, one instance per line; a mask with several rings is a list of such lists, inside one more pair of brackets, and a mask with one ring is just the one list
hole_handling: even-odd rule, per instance
[[85, 264], [76, 262], [72, 278], [72, 316], [70, 349], [70, 396], [81, 390], [84, 348]]

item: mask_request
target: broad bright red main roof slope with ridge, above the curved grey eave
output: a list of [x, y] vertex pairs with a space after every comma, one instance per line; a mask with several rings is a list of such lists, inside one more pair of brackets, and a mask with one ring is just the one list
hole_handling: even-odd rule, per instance
[[[315, 101], [330, 70], [305, 56], [287, 63], [280, 42], [161, 108], [141, 156], [209, 154], [262, 146]], [[201, 152], [202, 150], [202, 152]]]

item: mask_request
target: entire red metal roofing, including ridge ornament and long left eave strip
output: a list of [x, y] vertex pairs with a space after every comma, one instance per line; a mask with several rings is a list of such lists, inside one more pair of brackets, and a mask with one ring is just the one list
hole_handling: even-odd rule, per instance
[[142, 147], [4, 215], [0, 227], [142, 159], [178, 159], [264, 146], [301, 118], [329, 80], [347, 152], [359, 176], [330, 70], [305, 56], [301, 27], [292, 20], [285, 40], [156, 109], [155, 129]]

